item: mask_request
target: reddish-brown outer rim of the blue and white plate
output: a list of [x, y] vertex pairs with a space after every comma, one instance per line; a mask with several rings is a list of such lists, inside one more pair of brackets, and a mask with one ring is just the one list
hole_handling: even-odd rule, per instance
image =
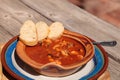
[[[18, 76], [17, 74], [15, 74], [9, 67], [8, 67], [8, 65], [6, 64], [6, 60], [5, 60], [5, 52], [6, 52], [6, 50], [7, 50], [7, 48], [8, 48], [8, 46], [12, 43], [12, 42], [14, 42], [15, 40], [17, 40], [18, 39], [18, 35], [17, 36], [15, 36], [15, 37], [13, 37], [12, 39], [10, 39], [6, 44], [5, 44], [5, 46], [3, 47], [3, 49], [2, 49], [2, 52], [1, 52], [1, 58], [2, 58], [2, 64], [3, 64], [3, 67], [5, 68], [5, 70], [8, 72], [8, 73], [10, 73], [10, 75], [12, 75], [14, 78], [16, 78], [16, 79], [20, 79], [20, 80], [24, 80], [24, 78], [22, 78], [22, 77], [20, 77], [20, 76]], [[92, 39], [90, 39], [91, 41], [94, 41], [94, 40], [92, 40]], [[89, 78], [89, 80], [93, 80], [93, 79], [97, 79], [100, 75], [102, 75], [102, 73], [104, 73], [105, 71], [106, 71], [106, 69], [107, 69], [107, 67], [108, 67], [108, 56], [107, 56], [107, 52], [103, 49], [103, 47], [102, 46], [100, 46], [100, 45], [96, 45], [99, 49], [100, 49], [100, 51], [102, 52], [102, 55], [103, 55], [103, 57], [104, 57], [104, 64], [103, 64], [103, 67], [101, 68], [101, 70], [96, 74], [96, 75], [94, 75], [94, 76], [92, 76], [92, 77], [90, 77]]]

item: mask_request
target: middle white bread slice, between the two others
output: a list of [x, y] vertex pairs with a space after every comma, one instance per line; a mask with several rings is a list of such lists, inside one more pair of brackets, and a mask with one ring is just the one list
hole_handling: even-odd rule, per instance
[[37, 35], [38, 35], [39, 42], [48, 36], [49, 27], [45, 22], [40, 21], [36, 23], [36, 29], [37, 29]]

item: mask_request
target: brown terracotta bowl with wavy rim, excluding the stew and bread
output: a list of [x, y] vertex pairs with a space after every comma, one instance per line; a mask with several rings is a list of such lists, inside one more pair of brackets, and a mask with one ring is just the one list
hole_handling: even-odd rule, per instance
[[[76, 61], [68, 65], [57, 64], [54, 61], [51, 61], [45, 64], [39, 63], [36, 60], [40, 60], [40, 58], [34, 57], [35, 55], [42, 56], [42, 55], [34, 54], [34, 52], [37, 51], [38, 47], [34, 46], [34, 49], [29, 49], [28, 51], [26, 51], [28, 46], [24, 45], [21, 41], [18, 41], [17, 46], [16, 46], [17, 55], [22, 61], [27, 63], [29, 66], [33, 67], [33, 69], [35, 69], [40, 74], [43, 74], [46, 76], [52, 76], [52, 77], [61, 77], [61, 76], [67, 76], [67, 75], [73, 74], [78, 69], [80, 69], [80, 67], [84, 66], [89, 60], [93, 58], [94, 46], [87, 37], [85, 37], [84, 35], [78, 34], [78, 33], [65, 30], [63, 36], [69, 39], [72, 39], [74, 41], [77, 41], [79, 45], [82, 46], [84, 50], [84, 55], [80, 61]], [[28, 56], [27, 53], [29, 52], [33, 52], [32, 54], [33, 58]], [[67, 60], [64, 62], [67, 62]]]

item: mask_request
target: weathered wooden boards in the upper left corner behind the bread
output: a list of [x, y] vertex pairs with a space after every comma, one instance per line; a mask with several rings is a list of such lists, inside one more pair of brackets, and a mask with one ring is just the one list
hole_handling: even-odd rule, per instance
[[19, 29], [24, 21], [30, 19], [34, 22], [50, 20], [41, 16], [38, 12], [25, 6], [18, 0], [0, 0], [0, 42], [7, 42], [13, 36], [19, 34]]

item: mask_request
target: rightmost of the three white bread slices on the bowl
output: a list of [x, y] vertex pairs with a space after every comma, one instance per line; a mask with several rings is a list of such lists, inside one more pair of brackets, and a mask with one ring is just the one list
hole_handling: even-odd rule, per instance
[[59, 38], [64, 32], [64, 26], [60, 22], [54, 22], [50, 26], [50, 32], [48, 34], [48, 38], [56, 39]]

